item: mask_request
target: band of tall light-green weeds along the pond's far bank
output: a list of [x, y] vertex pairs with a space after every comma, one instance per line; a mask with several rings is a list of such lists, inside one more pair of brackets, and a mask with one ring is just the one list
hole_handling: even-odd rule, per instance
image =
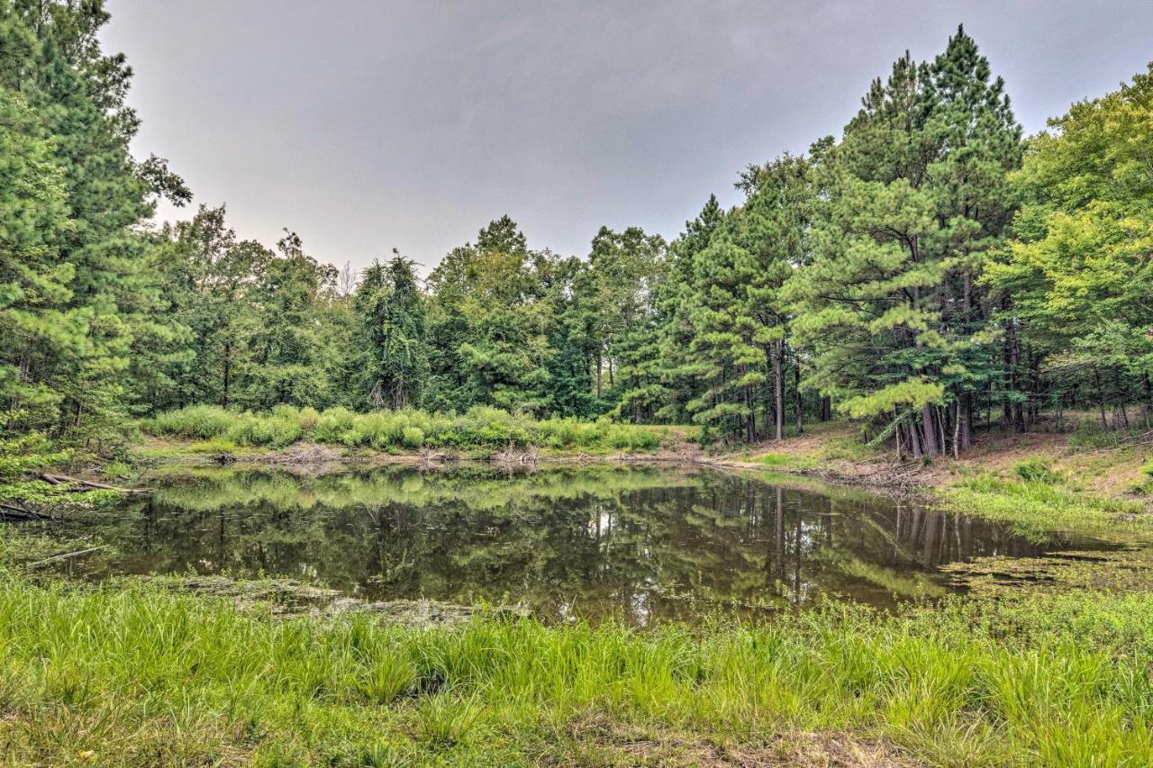
[[377, 450], [488, 449], [536, 445], [555, 450], [651, 451], [662, 443], [653, 427], [576, 419], [537, 421], [489, 407], [460, 415], [423, 411], [353, 413], [347, 408], [277, 406], [270, 413], [234, 413], [219, 406], [188, 406], [143, 422], [145, 431], [188, 439], [223, 439], [235, 445], [282, 447], [314, 441]]

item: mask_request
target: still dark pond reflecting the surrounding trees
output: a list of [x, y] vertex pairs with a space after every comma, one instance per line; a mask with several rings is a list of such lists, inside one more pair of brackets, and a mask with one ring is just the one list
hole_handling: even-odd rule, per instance
[[939, 571], [948, 563], [1094, 545], [1030, 540], [858, 490], [694, 468], [212, 468], [148, 482], [150, 496], [84, 521], [105, 552], [59, 567], [96, 579], [289, 577], [372, 601], [512, 604], [549, 622], [645, 625], [829, 597], [934, 598], [958, 589]]

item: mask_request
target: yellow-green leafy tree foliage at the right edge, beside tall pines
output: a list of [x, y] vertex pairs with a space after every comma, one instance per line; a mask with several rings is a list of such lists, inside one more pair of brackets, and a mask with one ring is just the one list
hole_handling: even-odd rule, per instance
[[1153, 371], [1153, 68], [1049, 125], [1012, 176], [1017, 239], [985, 281], [1011, 300], [1047, 383], [1103, 422]]

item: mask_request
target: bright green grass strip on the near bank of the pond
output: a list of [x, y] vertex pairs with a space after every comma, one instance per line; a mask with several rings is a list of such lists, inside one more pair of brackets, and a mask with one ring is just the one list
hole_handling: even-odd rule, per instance
[[935, 765], [1151, 765], [1151, 617], [1148, 594], [1082, 593], [758, 627], [415, 630], [2, 575], [0, 744], [42, 765], [669, 765], [804, 731]]

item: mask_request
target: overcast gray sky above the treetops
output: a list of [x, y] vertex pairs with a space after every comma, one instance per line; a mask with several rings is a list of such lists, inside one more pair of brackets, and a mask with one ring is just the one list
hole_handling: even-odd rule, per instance
[[[1153, 59], [1150, 0], [110, 0], [134, 150], [238, 233], [425, 265], [508, 213], [583, 255], [675, 236], [749, 163], [839, 134], [906, 48], [958, 23], [1027, 131]], [[194, 204], [195, 204], [194, 203]], [[186, 209], [187, 211], [187, 209]], [[172, 209], [161, 210], [171, 217]], [[176, 214], [188, 214], [180, 213]]]

